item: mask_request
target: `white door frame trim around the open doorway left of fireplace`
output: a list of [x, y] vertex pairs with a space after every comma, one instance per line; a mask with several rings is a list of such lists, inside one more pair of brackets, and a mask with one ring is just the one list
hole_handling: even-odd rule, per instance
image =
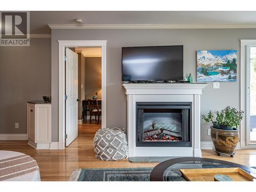
[[65, 48], [101, 47], [101, 128], [106, 127], [106, 40], [58, 40], [59, 49], [59, 150], [65, 149]]

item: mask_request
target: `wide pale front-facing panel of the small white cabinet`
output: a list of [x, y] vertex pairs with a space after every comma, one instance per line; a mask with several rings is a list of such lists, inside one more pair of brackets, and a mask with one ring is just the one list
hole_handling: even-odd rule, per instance
[[51, 142], [51, 106], [35, 105], [35, 143]]

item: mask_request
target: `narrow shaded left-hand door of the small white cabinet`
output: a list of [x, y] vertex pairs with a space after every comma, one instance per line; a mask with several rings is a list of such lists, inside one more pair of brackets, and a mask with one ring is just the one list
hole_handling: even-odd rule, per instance
[[28, 139], [35, 142], [35, 105], [28, 103]]

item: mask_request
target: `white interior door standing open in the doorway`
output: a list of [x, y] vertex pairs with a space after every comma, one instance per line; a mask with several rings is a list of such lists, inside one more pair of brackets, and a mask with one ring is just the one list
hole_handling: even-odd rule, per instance
[[78, 136], [78, 56], [66, 48], [66, 146]]

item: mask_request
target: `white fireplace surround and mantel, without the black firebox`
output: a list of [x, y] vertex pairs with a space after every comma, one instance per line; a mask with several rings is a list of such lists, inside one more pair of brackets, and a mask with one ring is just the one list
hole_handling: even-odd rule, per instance
[[[125, 83], [129, 157], [201, 157], [200, 95], [207, 83]], [[136, 102], [191, 102], [191, 147], [136, 146]]]

